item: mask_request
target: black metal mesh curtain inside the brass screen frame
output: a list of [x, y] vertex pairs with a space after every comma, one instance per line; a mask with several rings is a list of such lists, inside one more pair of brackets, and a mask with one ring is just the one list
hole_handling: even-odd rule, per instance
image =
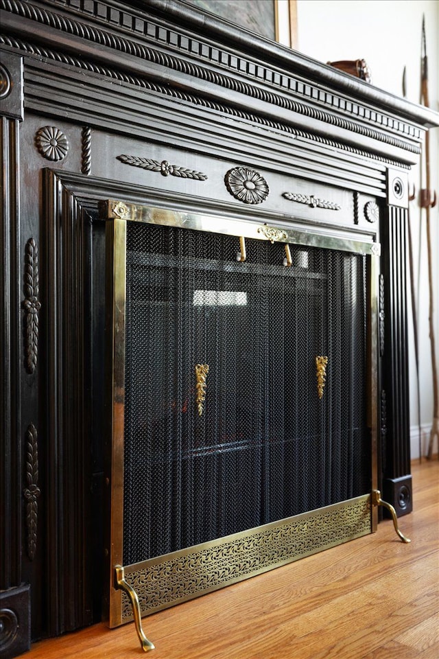
[[238, 248], [128, 223], [125, 565], [370, 492], [365, 257]]

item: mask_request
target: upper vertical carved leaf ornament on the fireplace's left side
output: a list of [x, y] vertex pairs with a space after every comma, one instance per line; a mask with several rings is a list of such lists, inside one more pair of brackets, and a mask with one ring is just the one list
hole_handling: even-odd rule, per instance
[[25, 369], [34, 373], [38, 361], [38, 247], [34, 238], [29, 238], [25, 246], [23, 308], [25, 310]]

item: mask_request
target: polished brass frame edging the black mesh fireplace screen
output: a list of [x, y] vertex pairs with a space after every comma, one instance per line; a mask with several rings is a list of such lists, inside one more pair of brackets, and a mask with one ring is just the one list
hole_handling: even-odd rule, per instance
[[[253, 238], [255, 240], [270, 240], [270, 242], [283, 242], [285, 244], [300, 244], [304, 246], [313, 246], [319, 248], [327, 248], [339, 251], [349, 251], [366, 255], [367, 257], [367, 296], [368, 296], [368, 342], [367, 342], [367, 372], [368, 372], [368, 426], [370, 428], [370, 441], [371, 441], [371, 483], [372, 491], [377, 489], [377, 432], [378, 432], [378, 419], [377, 419], [377, 360], [378, 360], [378, 336], [377, 336], [377, 290], [378, 281], [377, 273], [378, 258], [380, 254], [380, 245], [373, 242], [370, 235], [364, 238], [353, 240], [351, 238], [340, 238], [340, 236], [322, 235], [316, 233], [307, 233], [305, 231], [296, 231], [289, 227], [268, 227], [267, 224], [261, 224], [257, 221], [249, 220], [230, 220], [219, 216], [209, 216], [201, 213], [180, 213], [163, 208], [154, 208], [150, 206], [134, 205], [123, 203], [120, 200], [106, 200], [100, 204], [100, 217], [106, 220], [106, 354], [108, 362], [106, 364], [107, 373], [110, 373], [110, 382], [107, 387], [108, 405], [111, 410], [111, 449], [110, 449], [110, 465], [108, 467], [108, 474], [106, 483], [108, 485], [109, 499], [110, 499], [110, 529], [108, 538], [108, 581], [109, 592], [104, 596], [106, 601], [107, 610], [104, 615], [108, 619], [109, 627], [117, 627], [123, 623], [132, 620], [132, 616], [126, 613], [126, 594], [117, 587], [116, 580], [116, 566], [123, 565], [123, 444], [124, 444], [124, 406], [125, 406], [125, 323], [126, 323], [126, 222], [143, 222], [146, 224], [161, 224], [167, 227], [179, 227], [184, 229], [193, 229], [195, 231], [208, 231], [211, 233], [224, 233], [226, 235], [235, 235], [237, 238]], [[370, 525], [368, 530], [364, 528], [358, 533], [348, 533], [348, 537], [342, 537], [338, 542], [331, 542], [327, 546], [335, 546], [340, 542], [346, 542], [353, 537], [365, 535], [366, 533], [374, 533], [377, 530], [378, 515], [377, 507], [370, 505], [370, 494], [359, 497], [360, 500], [360, 513], [358, 523], [364, 523], [364, 508], [366, 505], [368, 515], [370, 513]], [[325, 511], [338, 511], [335, 514], [344, 515], [343, 508], [349, 507], [354, 499], [347, 502], [341, 502], [334, 506], [329, 506], [318, 511], [308, 511], [305, 513], [305, 518], [311, 519], [318, 518]], [[340, 509], [342, 512], [340, 513]], [[280, 520], [272, 524], [265, 525], [265, 527], [280, 528], [285, 527], [285, 524], [295, 523], [299, 518], [304, 517], [296, 516], [289, 518], [289, 520]], [[362, 520], [362, 521], [361, 521]], [[251, 529], [250, 531], [259, 531], [265, 527], [258, 529]], [[164, 557], [154, 557], [141, 564], [133, 566], [124, 566], [126, 575], [137, 573], [141, 566], [145, 570], [150, 569], [151, 566], [156, 565], [157, 562], [167, 562], [171, 556], [177, 555], [184, 557], [188, 551], [194, 551], [195, 555], [198, 551], [203, 551], [206, 546], [221, 546], [221, 544], [228, 544], [232, 539], [237, 542], [241, 541], [241, 537], [246, 537], [250, 531], [228, 536], [226, 538], [217, 539], [210, 543], [204, 543], [195, 548], [185, 548], [180, 552], [174, 552], [172, 555], [165, 555]], [[341, 534], [343, 536], [343, 533]], [[313, 548], [302, 555], [309, 555], [316, 553], [327, 546]], [[285, 557], [281, 564], [292, 562], [300, 557], [289, 556]], [[272, 565], [272, 568], [277, 564]], [[244, 575], [243, 577], [234, 578], [230, 583], [235, 583], [241, 579], [246, 579], [254, 574], [265, 572], [271, 569], [264, 567], [258, 569], [251, 574]], [[185, 597], [178, 599], [178, 601], [185, 601], [192, 597], [198, 597], [204, 592], [222, 588], [228, 585], [226, 582], [218, 585], [215, 588], [209, 588], [198, 592], [196, 594], [188, 594]], [[167, 606], [174, 605], [177, 601], [158, 605], [153, 610], [146, 610], [141, 606], [142, 615], [152, 613]]]

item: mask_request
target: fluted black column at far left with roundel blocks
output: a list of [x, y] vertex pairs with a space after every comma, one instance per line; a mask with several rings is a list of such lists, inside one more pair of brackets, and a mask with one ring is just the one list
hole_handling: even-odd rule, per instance
[[0, 652], [3, 659], [30, 647], [29, 585], [21, 570], [21, 471], [23, 437], [20, 419], [20, 238], [19, 122], [23, 120], [23, 62], [2, 54], [0, 65], [3, 196], [0, 220]]

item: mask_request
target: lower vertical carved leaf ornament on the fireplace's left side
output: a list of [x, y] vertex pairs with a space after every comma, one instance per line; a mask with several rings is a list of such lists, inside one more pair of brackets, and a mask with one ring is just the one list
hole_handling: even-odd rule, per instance
[[27, 500], [27, 555], [32, 561], [36, 552], [36, 533], [38, 526], [38, 433], [34, 424], [26, 431], [26, 484], [23, 495]]

